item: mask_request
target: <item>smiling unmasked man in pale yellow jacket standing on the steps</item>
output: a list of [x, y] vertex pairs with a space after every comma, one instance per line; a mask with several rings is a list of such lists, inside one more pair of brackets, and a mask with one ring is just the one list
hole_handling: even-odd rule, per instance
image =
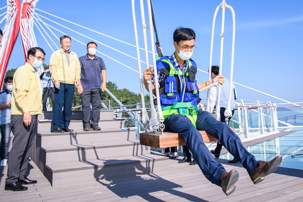
[[70, 51], [71, 40], [69, 35], [61, 36], [62, 48], [54, 52], [49, 60], [49, 69], [55, 83], [53, 104], [55, 132], [73, 132], [68, 127], [72, 116], [74, 85], [78, 86], [80, 83], [81, 67], [77, 54]]

